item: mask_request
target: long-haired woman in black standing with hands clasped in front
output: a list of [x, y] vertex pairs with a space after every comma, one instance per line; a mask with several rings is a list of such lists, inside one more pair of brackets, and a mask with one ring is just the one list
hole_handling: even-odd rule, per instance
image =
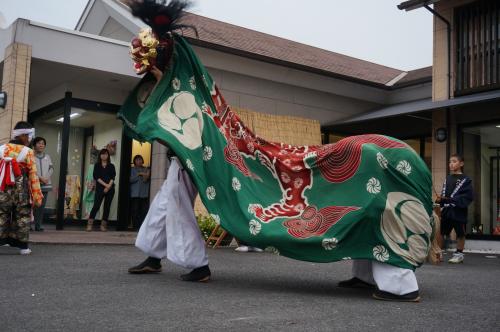
[[87, 232], [92, 231], [92, 225], [97, 211], [101, 208], [101, 203], [104, 200], [104, 211], [102, 213], [101, 231], [107, 231], [107, 223], [109, 217], [109, 209], [113, 196], [115, 195], [115, 165], [111, 163], [109, 151], [102, 149], [99, 152], [99, 161], [94, 166], [94, 180], [96, 181], [95, 199], [92, 211], [90, 211], [89, 220], [87, 222]]

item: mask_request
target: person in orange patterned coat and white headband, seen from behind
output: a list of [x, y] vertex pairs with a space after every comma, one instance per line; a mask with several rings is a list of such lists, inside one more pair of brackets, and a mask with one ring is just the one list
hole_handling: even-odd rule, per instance
[[20, 121], [12, 140], [0, 146], [0, 245], [8, 244], [29, 255], [29, 228], [33, 205], [42, 204], [33, 150], [28, 148], [34, 128]]

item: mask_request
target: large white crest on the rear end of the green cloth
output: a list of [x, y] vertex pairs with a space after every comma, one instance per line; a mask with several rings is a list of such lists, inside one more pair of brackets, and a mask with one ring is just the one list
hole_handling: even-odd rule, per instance
[[389, 193], [380, 230], [391, 250], [408, 263], [418, 266], [425, 261], [432, 233], [431, 216], [416, 197]]

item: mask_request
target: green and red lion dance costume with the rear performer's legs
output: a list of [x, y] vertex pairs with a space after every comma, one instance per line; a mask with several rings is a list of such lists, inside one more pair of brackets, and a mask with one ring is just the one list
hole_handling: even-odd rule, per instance
[[[420, 156], [381, 135], [322, 146], [256, 136], [173, 31], [178, 26], [159, 24], [179, 3], [132, 5], [152, 27], [141, 34], [168, 45], [169, 65], [152, 92], [148, 74], [130, 94], [120, 113], [126, 130], [166, 142], [211, 216], [238, 239], [298, 260], [354, 260], [355, 278], [345, 285], [376, 284], [377, 298], [417, 301], [414, 270], [433, 231], [431, 176]], [[141, 53], [141, 45], [132, 42], [132, 54], [146, 57], [135, 58], [135, 68], [147, 70], [154, 52]]]

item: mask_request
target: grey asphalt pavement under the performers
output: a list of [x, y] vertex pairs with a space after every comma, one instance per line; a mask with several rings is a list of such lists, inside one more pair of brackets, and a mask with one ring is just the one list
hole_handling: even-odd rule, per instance
[[[422, 301], [376, 301], [337, 287], [350, 263], [209, 250], [212, 280], [130, 275], [144, 256], [126, 245], [0, 247], [0, 330], [8, 331], [498, 331], [500, 257], [417, 270]], [[450, 255], [448, 255], [450, 257]]]

